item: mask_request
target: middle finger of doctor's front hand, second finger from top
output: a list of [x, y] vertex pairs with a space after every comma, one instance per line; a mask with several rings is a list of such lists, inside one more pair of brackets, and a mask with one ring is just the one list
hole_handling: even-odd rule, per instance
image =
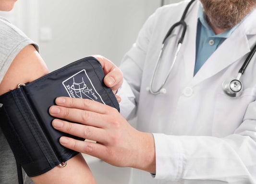
[[104, 117], [102, 114], [90, 112], [87, 110], [75, 109], [75, 108], [64, 108], [60, 106], [51, 106], [49, 109], [51, 116], [60, 119], [66, 119], [94, 127], [104, 126]]

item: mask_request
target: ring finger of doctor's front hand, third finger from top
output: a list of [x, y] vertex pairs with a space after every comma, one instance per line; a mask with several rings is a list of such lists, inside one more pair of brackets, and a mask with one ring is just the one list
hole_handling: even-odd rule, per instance
[[103, 129], [71, 123], [60, 119], [54, 119], [52, 121], [52, 126], [54, 129], [60, 130], [70, 135], [102, 143], [106, 142], [108, 137], [106, 131]]

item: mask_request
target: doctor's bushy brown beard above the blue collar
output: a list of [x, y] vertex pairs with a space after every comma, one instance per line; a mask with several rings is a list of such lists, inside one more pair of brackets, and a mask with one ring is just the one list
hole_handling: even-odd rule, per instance
[[219, 29], [230, 29], [242, 22], [256, 6], [256, 0], [200, 0], [207, 22]]

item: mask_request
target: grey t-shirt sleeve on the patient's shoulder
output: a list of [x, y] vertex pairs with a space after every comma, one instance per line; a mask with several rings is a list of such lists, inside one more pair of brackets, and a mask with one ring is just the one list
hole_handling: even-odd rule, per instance
[[0, 83], [13, 59], [29, 44], [33, 44], [39, 52], [37, 43], [34, 43], [7, 19], [0, 17]]

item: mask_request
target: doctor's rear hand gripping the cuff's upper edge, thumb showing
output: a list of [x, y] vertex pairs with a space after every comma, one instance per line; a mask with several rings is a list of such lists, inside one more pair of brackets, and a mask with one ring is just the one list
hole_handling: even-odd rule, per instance
[[[114, 94], [116, 94], [119, 87], [122, 85], [123, 77], [121, 70], [114, 65], [110, 60], [107, 58], [101, 56], [101, 55], [91, 55], [92, 57], [95, 57], [98, 59], [100, 64], [102, 65], [105, 78], [104, 83], [107, 87], [110, 87]], [[117, 101], [121, 102], [121, 97], [116, 96]]]

